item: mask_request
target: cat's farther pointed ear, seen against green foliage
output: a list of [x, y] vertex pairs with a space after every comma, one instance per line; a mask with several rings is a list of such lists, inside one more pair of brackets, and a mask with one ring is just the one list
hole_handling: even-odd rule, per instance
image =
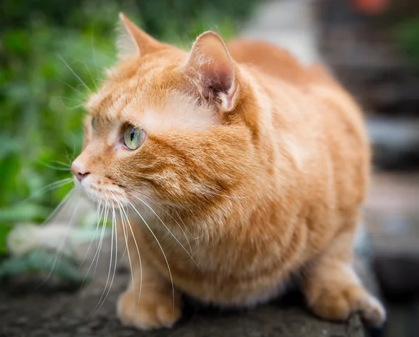
[[138, 28], [131, 20], [119, 13], [120, 33], [117, 38], [117, 51], [119, 59], [140, 57], [163, 46], [158, 40], [149, 36]]

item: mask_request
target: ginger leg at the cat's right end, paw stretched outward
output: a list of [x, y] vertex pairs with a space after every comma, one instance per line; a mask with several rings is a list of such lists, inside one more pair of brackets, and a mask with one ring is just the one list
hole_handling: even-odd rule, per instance
[[328, 320], [360, 313], [367, 324], [385, 320], [381, 303], [362, 286], [351, 266], [353, 233], [339, 234], [330, 248], [304, 271], [302, 290], [311, 310]]

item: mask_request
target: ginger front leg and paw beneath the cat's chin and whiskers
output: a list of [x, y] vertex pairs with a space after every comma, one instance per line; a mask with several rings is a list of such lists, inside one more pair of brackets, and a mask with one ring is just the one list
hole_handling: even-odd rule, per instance
[[145, 254], [138, 251], [132, 236], [128, 237], [127, 249], [133, 280], [118, 299], [119, 320], [125, 326], [140, 330], [172, 327], [182, 315], [179, 291], [154, 269]]

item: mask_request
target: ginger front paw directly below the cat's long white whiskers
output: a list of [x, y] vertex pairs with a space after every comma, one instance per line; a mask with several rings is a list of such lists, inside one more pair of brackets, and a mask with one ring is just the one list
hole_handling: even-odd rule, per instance
[[118, 300], [119, 320], [124, 326], [140, 330], [170, 328], [181, 314], [179, 299], [167, 294], [147, 294], [138, 301], [133, 292], [124, 292]]

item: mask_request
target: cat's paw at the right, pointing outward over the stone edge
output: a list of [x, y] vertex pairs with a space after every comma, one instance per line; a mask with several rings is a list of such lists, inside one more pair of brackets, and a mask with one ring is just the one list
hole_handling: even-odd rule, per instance
[[324, 288], [311, 308], [316, 315], [328, 320], [346, 320], [352, 313], [360, 313], [373, 327], [385, 321], [383, 305], [360, 285], [348, 285], [340, 290]]

